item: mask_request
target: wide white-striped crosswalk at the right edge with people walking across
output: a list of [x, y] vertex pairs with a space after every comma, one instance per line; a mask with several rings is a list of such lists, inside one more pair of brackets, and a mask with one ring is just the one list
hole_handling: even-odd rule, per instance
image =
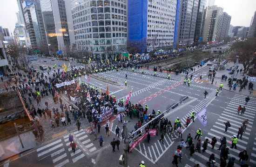
[[[214, 94], [214, 93], [213, 93]], [[213, 95], [212, 94], [212, 95]], [[250, 153], [249, 151], [249, 145], [252, 144], [252, 142], [249, 138], [249, 136], [253, 136], [251, 134], [252, 132], [252, 128], [253, 128], [253, 121], [254, 121], [254, 117], [255, 117], [255, 107], [256, 107], [256, 98], [250, 98], [249, 103], [245, 106], [246, 107], [246, 111], [245, 113], [241, 116], [241, 115], [237, 115], [237, 107], [239, 105], [244, 106], [244, 99], [246, 96], [242, 95], [242, 94], [236, 94], [233, 98], [230, 98], [230, 102], [226, 102], [227, 105], [226, 107], [223, 107], [223, 111], [222, 114], [220, 114], [219, 118], [216, 120], [215, 125], [213, 125], [210, 129], [210, 132], [208, 132], [206, 134], [206, 137], [204, 137], [205, 139], [209, 139], [209, 141], [211, 141], [211, 139], [213, 137], [216, 137], [216, 139], [218, 140], [216, 145], [215, 145], [215, 149], [211, 149], [211, 145], [208, 145], [208, 149], [206, 150], [205, 153], [200, 154], [195, 152], [195, 154], [193, 154], [192, 157], [190, 157], [190, 161], [192, 161], [195, 164], [200, 164], [201, 167], [206, 167], [205, 162], [207, 162], [209, 160], [209, 156], [211, 154], [215, 154], [216, 157], [216, 165], [219, 166], [219, 162], [220, 162], [220, 151], [217, 151], [216, 149], [218, 149], [218, 147], [220, 146], [220, 138], [222, 138], [223, 136], [226, 136], [227, 138], [227, 146], [230, 147], [231, 146], [231, 137], [235, 134], [237, 135], [238, 132], [238, 128], [242, 126], [242, 121], [245, 119], [249, 120], [249, 124], [247, 125], [247, 128], [245, 130], [245, 133], [243, 133], [243, 140], [240, 140], [238, 138], [238, 142], [236, 144], [237, 149], [235, 148], [230, 148], [229, 149], [229, 158], [230, 157], [234, 157], [236, 158], [235, 160], [235, 167], [240, 167], [240, 162], [238, 154], [242, 151], [242, 150], [247, 150], [249, 153], [249, 160], [245, 161], [245, 163], [249, 164], [250, 167], [253, 167], [252, 164], [256, 164], [256, 142], [253, 142], [253, 152], [254, 153]], [[200, 103], [199, 103], [200, 104]], [[202, 106], [197, 106], [195, 107], [197, 110], [195, 111], [194, 109], [192, 111], [198, 112], [198, 107], [202, 107]], [[192, 112], [191, 111], [191, 112]], [[189, 116], [189, 114], [187, 115]], [[229, 121], [231, 124], [231, 127], [228, 128], [228, 131], [225, 132], [225, 125], [223, 122]], [[182, 118], [182, 122], [185, 123], [185, 117]], [[194, 137], [194, 136], [192, 136]], [[256, 140], [256, 138], [254, 138]], [[203, 162], [202, 162], [203, 161]], [[227, 160], [228, 162], [228, 160]]]

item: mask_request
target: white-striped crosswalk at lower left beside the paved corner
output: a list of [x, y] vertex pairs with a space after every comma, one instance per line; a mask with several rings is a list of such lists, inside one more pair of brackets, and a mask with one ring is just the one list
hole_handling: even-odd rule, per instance
[[[88, 133], [81, 129], [73, 133], [74, 142], [77, 144], [75, 153], [70, 147], [70, 141], [68, 140], [69, 134], [63, 136], [59, 140], [53, 141], [45, 146], [39, 147], [37, 156], [40, 160], [43, 160], [47, 156], [51, 156], [54, 167], [61, 167], [68, 162], [75, 163], [81, 158], [85, 157], [86, 154], [90, 155], [97, 150], [93, 142], [88, 138]], [[78, 147], [78, 141], [82, 147]]]

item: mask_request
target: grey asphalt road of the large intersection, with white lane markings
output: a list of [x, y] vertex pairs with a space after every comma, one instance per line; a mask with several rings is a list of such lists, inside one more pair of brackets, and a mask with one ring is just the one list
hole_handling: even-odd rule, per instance
[[[32, 62], [32, 65], [37, 68], [40, 65], [48, 66], [48, 63], [52, 66], [55, 62], [56, 64], [63, 64], [63, 61], [47, 61], [44, 62], [45, 58], [39, 58]], [[65, 62], [67, 64], [67, 61]], [[77, 65], [76, 65], [77, 66]], [[46, 72], [44, 72], [46, 73]], [[51, 72], [52, 73], [52, 72]], [[191, 133], [192, 137], [195, 137], [194, 131], [198, 128], [202, 129], [202, 141], [206, 138], [213, 138], [214, 136], [218, 140], [215, 149], [211, 149], [210, 144], [205, 153], [195, 153], [193, 156], [189, 155], [189, 150], [185, 148], [182, 149], [183, 159], [182, 163], [179, 163], [179, 167], [193, 167], [196, 163], [199, 163], [201, 167], [206, 166], [206, 162], [209, 159], [210, 154], [214, 153], [216, 155], [217, 166], [220, 164], [220, 152], [217, 151], [219, 147], [219, 139], [222, 136], [226, 136], [227, 140], [230, 141], [233, 134], [237, 134], [238, 127], [242, 125], [244, 119], [249, 119], [249, 125], [243, 134], [243, 140], [238, 139], [237, 149], [229, 149], [229, 157], [235, 157], [235, 167], [239, 167], [238, 154], [242, 150], [247, 150], [249, 153], [249, 160], [246, 161], [250, 167], [255, 167], [256, 164], [256, 130], [253, 128], [255, 124], [255, 108], [256, 108], [256, 98], [251, 97], [248, 105], [246, 106], [246, 112], [243, 116], [237, 115], [236, 108], [239, 104], [244, 104], [245, 96], [243, 94], [238, 94], [230, 92], [227, 90], [222, 90], [220, 94], [216, 97], [215, 92], [217, 87], [215, 85], [208, 84], [207, 82], [200, 82], [198, 80], [191, 80], [190, 86], [183, 84], [183, 74], [179, 74], [180, 80], [167, 80], [160, 77], [154, 77], [152, 75], [145, 75], [140, 73], [132, 73], [129, 71], [110, 71], [107, 73], [98, 73], [101, 77], [108, 78], [110, 80], [118, 81], [124, 84], [125, 74], [128, 75], [128, 86], [115, 86], [108, 85], [110, 95], [115, 94], [118, 100], [121, 98], [126, 98], [129, 92], [132, 90], [132, 95], [130, 101], [132, 104], [141, 103], [142, 105], [147, 104], [149, 109], [148, 113], [151, 114], [152, 110], [161, 110], [162, 112], [166, 110], [168, 104], [176, 103], [180, 100], [181, 96], [189, 96], [189, 99], [183, 101], [175, 109], [171, 109], [168, 114], [165, 115], [168, 120], [171, 120], [174, 124], [176, 117], [179, 117], [182, 123], [186, 122], [187, 116], [191, 112], [199, 112], [203, 107], [207, 106], [207, 126], [203, 127], [199, 120], [196, 118], [195, 122], [191, 123], [188, 128], [183, 131], [183, 138], [186, 139], [187, 134]], [[200, 75], [205, 78], [208, 74], [208, 68], [204, 68], [201, 71], [194, 73], [194, 79], [198, 79]], [[172, 76], [171, 76], [172, 78]], [[83, 76], [82, 80], [88, 82]], [[107, 84], [98, 80], [91, 78], [90, 84], [94, 87], [102, 88], [106, 90]], [[208, 96], [204, 99], [203, 92], [207, 90]], [[115, 117], [114, 117], [115, 118]], [[127, 118], [128, 131], [134, 130], [135, 123], [138, 119], [133, 118], [130, 120]], [[229, 127], [228, 132], [224, 133], [224, 123], [229, 121], [231, 127]], [[106, 167], [121, 167], [118, 164], [118, 160], [121, 154], [123, 154], [123, 143], [120, 145], [120, 152], [112, 153], [112, 147], [109, 146], [110, 141], [115, 137], [115, 127], [122, 127], [122, 123], [117, 119], [107, 122], [110, 127], [111, 134], [109, 137], [103, 135], [103, 140], [105, 140], [103, 147], [99, 146], [97, 140], [94, 140], [93, 135], [89, 135], [88, 131], [80, 131], [77, 129], [69, 132], [75, 134], [75, 138], [80, 145], [77, 148], [76, 154], [72, 153], [70, 147], [68, 146], [67, 134], [57, 137], [53, 140], [47, 141], [38, 146], [34, 150], [30, 150], [26, 153], [26, 156], [18, 156], [16, 160], [10, 159], [10, 162], [6, 164], [9, 167], [17, 167], [20, 164], [24, 164], [27, 167], [34, 166], [36, 164], [40, 166], [83, 166], [83, 167], [93, 167], [93, 166], [106, 166]], [[183, 125], [182, 125], [183, 126]], [[183, 126], [184, 127], [184, 126]], [[62, 128], [62, 127], [61, 127]], [[65, 128], [65, 127], [63, 127]], [[104, 128], [102, 128], [101, 133], [104, 133]], [[150, 144], [146, 140], [141, 141], [141, 143], [128, 154], [128, 164], [130, 167], [136, 167], [141, 162], [145, 161], [147, 167], [167, 167], [173, 166], [171, 161], [173, 160], [172, 154], [174, 154], [175, 149], [181, 138], [178, 138], [176, 134], [171, 134], [170, 136], [165, 136], [164, 143], [159, 142], [159, 136], [151, 137]], [[90, 140], [90, 142], [88, 141]], [[251, 141], [249, 141], [251, 140]], [[196, 143], [196, 140], [194, 140]], [[228, 142], [228, 147], [231, 144]], [[95, 148], [94, 148], [95, 147]], [[79, 151], [80, 150], [80, 151]], [[33, 152], [34, 151], [34, 152]], [[30, 153], [31, 152], [31, 153]], [[41, 157], [43, 158], [41, 160]], [[45, 157], [45, 158], [44, 158]], [[227, 160], [228, 162], [228, 160]]]

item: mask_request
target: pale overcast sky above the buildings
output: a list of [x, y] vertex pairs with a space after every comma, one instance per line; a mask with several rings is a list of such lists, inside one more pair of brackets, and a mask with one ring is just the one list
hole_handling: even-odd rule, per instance
[[[215, 5], [232, 16], [230, 24], [233, 26], [249, 27], [256, 11], [256, 0], [215, 0]], [[0, 26], [13, 32], [18, 11], [17, 0], [0, 0]]]

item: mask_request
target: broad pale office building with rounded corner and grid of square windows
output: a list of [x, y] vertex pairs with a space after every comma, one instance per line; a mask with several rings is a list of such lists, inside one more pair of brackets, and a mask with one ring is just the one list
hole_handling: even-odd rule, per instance
[[71, 9], [78, 51], [113, 59], [126, 50], [127, 0], [72, 0]]

